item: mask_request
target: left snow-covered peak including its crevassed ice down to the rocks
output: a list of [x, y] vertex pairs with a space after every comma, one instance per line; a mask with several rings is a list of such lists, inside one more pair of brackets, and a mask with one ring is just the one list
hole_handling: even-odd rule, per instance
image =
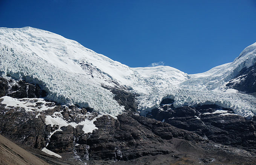
[[[1, 28], [0, 47], [3, 75], [40, 84], [49, 92], [47, 99], [89, 106], [104, 113], [122, 112], [114, 95], [101, 85], [111, 86], [113, 74], [119, 78], [127, 66], [76, 41], [31, 27]], [[98, 71], [95, 78], [86, 66]]]

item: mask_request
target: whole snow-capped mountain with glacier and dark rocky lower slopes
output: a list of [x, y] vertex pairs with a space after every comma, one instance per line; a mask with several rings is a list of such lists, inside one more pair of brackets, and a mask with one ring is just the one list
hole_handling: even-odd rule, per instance
[[0, 28], [0, 133], [50, 164], [255, 164], [255, 70], [256, 43], [188, 75]]

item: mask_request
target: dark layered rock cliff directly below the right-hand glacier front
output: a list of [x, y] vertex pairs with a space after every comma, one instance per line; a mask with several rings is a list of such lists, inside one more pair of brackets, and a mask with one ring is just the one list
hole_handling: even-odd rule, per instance
[[[218, 113], [223, 110], [224, 113]], [[245, 120], [233, 111], [217, 105], [172, 108], [164, 105], [152, 110], [148, 117], [165, 121], [224, 145], [240, 146], [256, 151], [256, 120]]]

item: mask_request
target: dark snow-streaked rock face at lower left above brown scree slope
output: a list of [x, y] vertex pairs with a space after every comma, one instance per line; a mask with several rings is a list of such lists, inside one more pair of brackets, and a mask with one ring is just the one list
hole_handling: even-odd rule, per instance
[[[87, 113], [85, 108], [70, 107], [67, 108], [61, 105], [55, 105], [54, 102], [47, 104], [48, 107], [52, 107], [49, 110], [42, 111], [39, 115], [38, 112], [26, 111], [20, 107], [5, 107], [5, 104], [0, 104], [0, 133], [8, 136], [18, 144], [26, 145], [32, 148], [42, 149], [46, 147], [50, 148], [56, 153], [73, 151], [74, 143], [81, 135], [84, 134], [82, 126], [73, 128], [72, 126], [61, 127], [58, 125], [46, 125], [46, 115], [53, 115], [55, 112], [59, 112], [66, 121], [77, 122], [85, 120], [83, 113]], [[37, 105], [36, 105], [37, 106]], [[38, 117], [36, 117], [38, 115]], [[98, 115], [92, 113], [87, 118], [94, 118]], [[53, 133], [51, 138], [50, 133]], [[82, 138], [81, 138], [82, 139]]]

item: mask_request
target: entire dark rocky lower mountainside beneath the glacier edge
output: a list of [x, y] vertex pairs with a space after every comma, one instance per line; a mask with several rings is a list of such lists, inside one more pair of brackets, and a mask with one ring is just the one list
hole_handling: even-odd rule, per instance
[[[41, 92], [36, 85], [22, 81], [1, 79], [0, 85], [3, 96], [14, 93], [15, 98], [37, 97]], [[109, 90], [126, 109], [116, 118], [75, 105], [57, 105], [36, 98], [16, 99], [29, 106], [27, 110], [24, 106], [1, 104], [3, 98], [0, 100], [0, 133], [30, 149], [46, 147], [65, 157], [65, 161], [76, 160], [74, 164], [134, 164], [133, 160], [145, 164], [152, 157], [163, 157], [167, 161], [165, 163], [186, 163], [189, 160], [190, 164], [210, 164], [218, 158], [218, 163], [232, 164], [233, 159], [222, 161], [225, 159], [223, 155], [243, 156], [243, 160], [255, 155], [254, 118], [245, 120], [233, 114], [232, 110], [217, 105], [174, 108], [174, 100], [168, 98], [163, 99], [160, 108], [143, 117], [134, 112], [137, 106], [135, 94], [128, 90]], [[26, 91], [29, 92], [26, 94]], [[65, 126], [47, 124], [47, 117], [60, 120], [58, 122], [64, 122]], [[79, 123], [95, 117], [97, 119], [93, 121], [97, 128], [85, 133], [84, 125]], [[37, 154], [40, 152], [35, 151]], [[218, 152], [223, 154], [211, 156]], [[191, 153], [197, 155], [196, 158], [191, 157]], [[41, 154], [40, 157], [48, 159]]]

